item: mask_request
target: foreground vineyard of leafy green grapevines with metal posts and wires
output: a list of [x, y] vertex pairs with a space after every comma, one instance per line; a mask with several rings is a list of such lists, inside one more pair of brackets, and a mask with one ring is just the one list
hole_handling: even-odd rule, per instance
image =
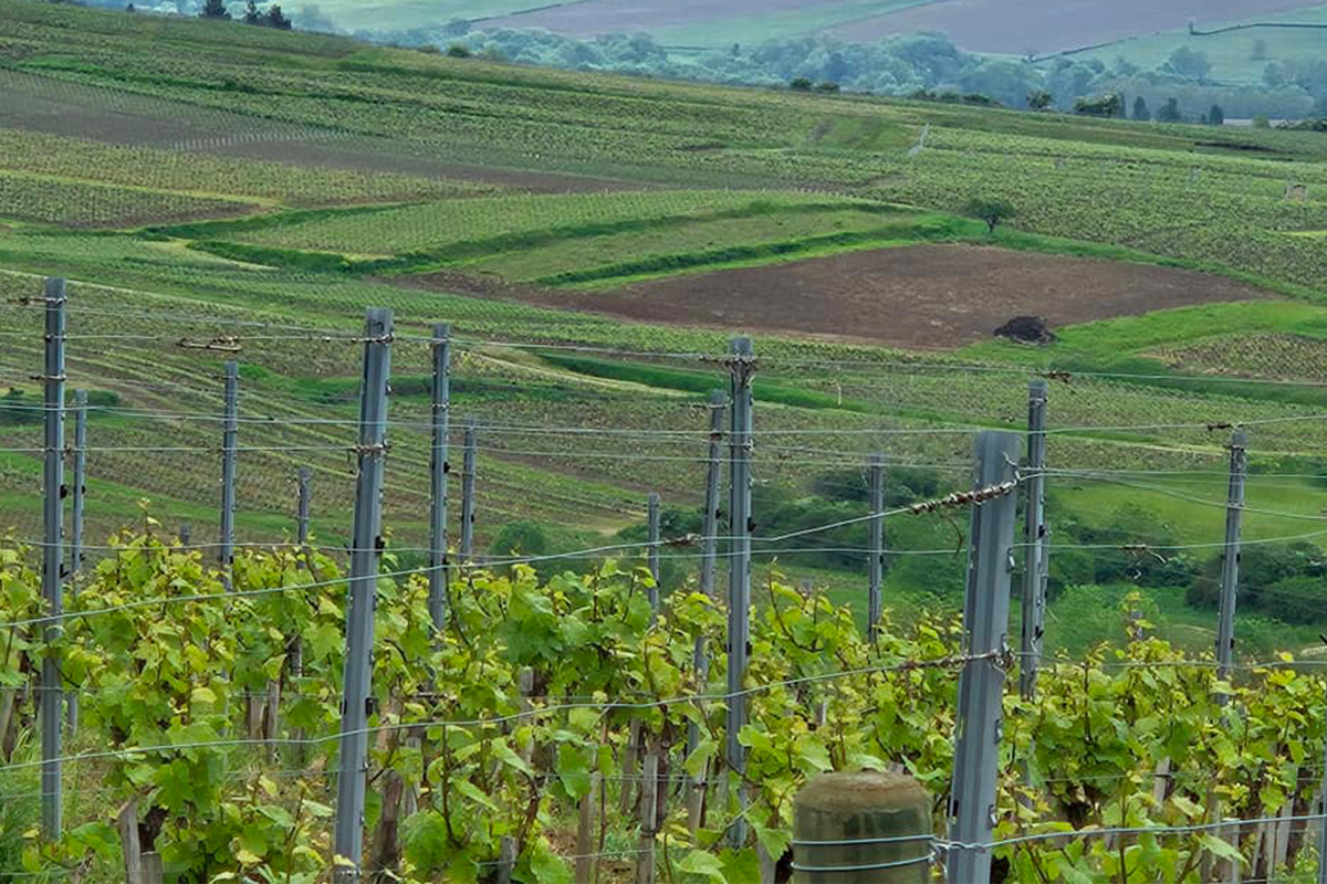
[[[1040, 637], [1031, 637], [1040, 630], [1024, 627], [1040, 615], [1026, 602], [1010, 616], [1011, 574], [1003, 566], [1010, 555], [1023, 565], [1018, 579], [1034, 587], [1035, 599], [1035, 587], [1044, 592], [1050, 575], [1046, 557], [1087, 555], [1101, 567], [1124, 555], [1145, 586], [1143, 573], [1156, 562], [1177, 567], [1186, 554], [1216, 550], [1220, 574], [1212, 582], [1222, 592], [1230, 587], [1221, 603], [1222, 628], [1238, 628], [1231, 580], [1241, 578], [1238, 571], [1227, 577], [1231, 549], [1247, 543], [1241, 558], [1254, 571], [1242, 578], [1239, 592], [1247, 604], [1254, 602], [1249, 591], [1258, 582], [1259, 550], [1322, 534], [1306, 534], [1303, 526], [1320, 516], [1243, 498], [1246, 480], [1250, 497], [1259, 488], [1258, 477], [1247, 474], [1243, 435], [1222, 455], [1231, 482], [1241, 482], [1239, 497], [1225, 502], [1166, 492], [1160, 484], [1172, 472], [1188, 480], [1206, 472], [1221, 484], [1217, 469], [1127, 470], [1132, 478], [1125, 478], [1059, 465], [1062, 452], [1075, 451], [1075, 435], [1109, 447], [1112, 437], [1165, 432], [1178, 445], [1188, 433], [1213, 433], [1201, 423], [1047, 427], [1044, 417], [1030, 417], [1022, 433], [877, 427], [863, 441], [890, 447], [889, 472], [872, 472], [884, 460], [859, 461], [865, 463], [859, 470], [871, 473], [865, 512], [821, 505], [802, 524], [780, 525], [787, 513], [766, 509], [770, 498], [762, 493], [752, 505], [752, 485], [742, 476], [764, 484], [780, 469], [848, 467], [853, 457], [845, 448], [825, 448], [837, 433], [811, 429], [808, 439], [802, 435], [807, 431], [786, 425], [790, 410], [779, 406], [784, 394], [778, 383], [755, 382], [756, 415], [763, 416], [754, 431], [743, 423], [751, 412], [738, 406], [751, 395], [752, 376], [778, 376], [780, 362], [812, 367], [771, 342], [768, 359], [717, 354], [707, 359], [714, 368], [691, 368], [719, 388], [730, 375], [730, 391], [710, 396], [709, 414], [693, 419], [690, 429], [665, 415], [669, 423], [618, 431], [634, 451], [605, 451], [614, 435], [608, 428], [548, 420], [520, 425], [511, 415], [507, 424], [484, 421], [490, 439], [528, 433], [523, 444], [540, 448], [537, 457], [556, 457], [561, 436], [572, 441], [567, 453], [579, 452], [587, 465], [622, 460], [626, 469], [646, 467], [660, 477], [673, 463], [709, 470], [709, 478], [695, 478], [698, 486], [709, 484], [707, 501], [719, 500], [721, 477], [729, 476], [729, 504], [702, 508], [698, 530], [687, 522], [694, 516], [673, 509], [665, 518], [656, 501], [645, 537], [563, 538], [531, 549], [523, 543], [537, 534], [527, 529], [524, 539], [506, 535], [506, 553], [495, 547], [486, 554], [475, 546], [475, 526], [494, 518], [492, 480], [475, 455], [496, 451], [478, 445], [472, 417], [462, 421], [459, 440], [449, 423], [453, 388], [483, 378], [471, 355], [492, 345], [453, 339], [446, 326], [431, 335], [411, 333], [409, 323], [394, 329], [390, 314], [373, 310], [358, 337], [346, 327], [111, 311], [98, 306], [94, 288], [66, 289], [62, 281], [48, 281], [45, 294], [36, 282], [19, 290], [27, 294], [11, 300], [9, 327], [41, 321], [48, 330], [40, 342], [45, 399], [23, 404], [11, 398], [4, 412], [11, 437], [45, 432], [45, 443], [27, 449], [28, 456], [44, 461], [49, 488], [76, 490], [68, 505], [58, 492], [42, 497], [54, 534], [11, 535], [0, 553], [0, 857], [15, 869], [11, 877], [97, 881], [129, 868], [133, 879], [142, 863], [159, 864], [171, 880], [198, 881], [346, 875], [618, 881], [653, 880], [656, 873], [674, 881], [774, 881], [788, 861], [798, 868], [795, 794], [831, 770], [916, 777], [934, 801], [934, 826], [918, 843], [896, 848], [897, 859], [947, 865], [951, 880], [965, 856], [989, 867], [993, 880], [1190, 881], [1222, 863], [1241, 865], [1243, 880], [1298, 880], [1295, 875], [1316, 868], [1319, 759], [1327, 749], [1320, 655], [1231, 653], [1242, 643], [1218, 647], [1216, 656], [1186, 651], [1153, 635], [1143, 591], [1123, 596], [1109, 614], [1116, 626], [1108, 640], [1075, 653], [1043, 649]], [[130, 327], [149, 321], [196, 327], [173, 343], [194, 354], [192, 382], [139, 384], [141, 395], [162, 398], [154, 406], [129, 407], [105, 395], [90, 406], [78, 399], [69, 408], [41, 404], [62, 403], [66, 383], [84, 382], [82, 353], [97, 347], [118, 360], [150, 343], [151, 335], [89, 330], [107, 315]], [[215, 333], [203, 331], [208, 327]], [[245, 349], [247, 366], [264, 347], [308, 347], [324, 354], [321, 370], [329, 374], [337, 363], [353, 372], [358, 357], [362, 380], [326, 384], [318, 394], [329, 408], [307, 416], [279, 412], [275, 398], [253, 402], [248, 394], [239, 410], [231, 404], [240, 396], [230, 392], [230, 380], [218, 384], [226, 388], [220, 412], [166, 406], [173, 394], [206, 384], [218, 358], [235, 347]], [[431, 404], [414, 415], [409, 403], [421, 395], [411, 392], [418, 383], [399, 372], [410, 366], [411, 347], [423, 349], [433, 368], [422, 394]], [[397, 349], [399, 362], [391, 358]], [[556, 345], [528, 351], [545, 351], [549, 364], [589, 359], [559, 355], [565, 350]], [[675, 351], [630, 355], [656, 363], [686, 359]], [[596, 358], [620, 372], [633, 364], [614, 363], [602, 349]], [[35, 360], [33, 371], [40, 364]], [[648, 370], [648, 363], [636, 364]], [[863, 363], [856, 371], [869, 371], [864, 383], [908, 379], [881, 364]], [[261, 376], [230, 367], [222, 374], [235, 378], [238, 390]], [[1047, 383], [1031, 386], [1032, 415], [1059, 402]], [[600, 395], [609, 390], [605, 382]], [[809, 388], [798, 392], [813, 395]], [[337, 417], [337, 400], [358, 400], [360, 417]], [[499, 407], [506, 402], [496, 400]], [[24, 419], [25, 412], [32, 417]], [[89, 412], [101, 419], [89, 421]], [[143, 441], [104, 443], [117, 424], [131, 427], [135, 419], [151, 421]], [[65, 421], [78, 427], [68, 452], [60, 441]], [[1304, 421], [1246, 415], [1241, 423], [1259, 440], [1292, 444]], [[188, 427], [219, 435], [220, 448], [192, 444], [183, 432]], [[277, 444], [277, 431], [326, 436], [320, 444]], [[604, 439], [589, 443], [587, 432]], [[422, 459], [410, 455], [411, 436], [433, 440]], [[649, 441], [656, 436], [678, 453], [657, 453], [658, 443]], [[780, 443], [788, 437], [800, 443]], [[904, 455], [912, 444], [905, 439], [925, 441], [934, 457], [946, 437], [943, 461], [924, 464]], [[1038, 439], [1042, 453], [1032, 448]], [[1046, 440], [1054, 455], [1042, 463]], [[697, 445], [707, 445], [709, 453]], [[15, 445], [7, 453], [24, 451]], [[102, 500], [109, 488], [92, 481], [114, 457], [145, 463], [183, 456], [196, 464], [210, 451], [219, 451], [223, 477], [215, 535], [203, 525], [169, 526], [161, 506], [147, 500], [134, 516], [118, 517]], [[320, 465], [324, 451], [352, 461], [340, 488], [336, 473]], [[1080, 456], [1093, 451], [1100, 448]], [[287, 496], [297, 505], [289, 509], [284, 541], [236, 539], [235, 520], [224, 514], [257, 504], [243, 492], [248, 478], [273, 469], [259, 467], [269, 457], [318, 469], [297, 470], [297, 494]], [[463, 464], [459, 476], [445, 467], [456, 461]], [[1209, 468], [1221, 463], [1213, 459]], [[70, 477], [68, 469], [77, 472]], [[616, 474], [609, 469], [604, 467], [604, 480]], [[411, 485], [429, 486], [407, 478], [419, 470], [434, 480], [423, 497], [435, 527], [423, 545], [411, 545], [398, 539], [405, 525], [395, 522], [402, 510], [391, 501]], [[853, 472], [863, 481], [859, 470], [840, 470], [839, 481], [851, 485]], [[210, 470], [180, 468], [167, 480], [176, 486], [203, 481], [206, 488], [200, 472]], [[1263, 478], [1263, 493], [1282, 496], [1290, 476]], [[145, 474], [142, 481], [150, 480]], [[819, 488], [832, 497], [824, 481]], [[1044, 531], [1035, 530], [1038, 517], [1044, 518], [1040, 485], [1066, 481], [1121, 482], [1143, 493], [1170, 493], [1188, 509], [1212, 506], [1227, 520], [1227, 539], [1047, 543]], [[344, 502], [338, 493], [348, 493]], [[1018, 537], [1031, 538], [1024, 541], [1014, 530], [1020, 498], [1027, 525]], [[365, 516], [365, 501], [374, 501], [372, 516]], [[66, 506], [68, 539], [58, 527]], [[746, 508], [752, 508], [750, 520], [738, 521], [733, 514]], [[109, 510], [122, 520], [104, 541], [85, 530], [98, 510], [102, 518]], [[336, 514], [352, 510], [349, 542], [333, 542], [337, 529], [348, 527], [336, 525]], [[965, 510], [967, 531], [957, 522]], [[1233, 533], [1230, 518], [1237, 518]], [[1243, 518], [1247, 531], [1238, 521]], [[1266, 533], [1296, 522], [1294, 534]], [[314, 527], [321, 524], [334, 527], [324, 533]], [[261, 522], [244, 525], [242, 538], [263, 530]], [[874, 539], [861, 546], [853, 531], [871, 526]], [[926, 539], [936, 546], [916, 546], [926, 537], [918, 530], [932, 531]], [[955, 549], [950, 539], [945, 549], [941, 538], [953, 531], [966, 541]], [[795, 587], [782, 562], [807, 554], [878, 561], [867, 603], [860, 588], [836, 602], [813, 578]], [[986, 563], [991, 554], [998, 567]], [[756, 573], [747, 570], [752, 562]], [[885, 565], [890, 575], [920, 566], [933, 580], [957, 571], [967, 584], [962, 616], [946, 614], [938, 596], [929, 610], [892, 610]], [[1035, 579], [1028, 582], [1028, 573]], [[861, 587], [860, 578], [856, 584]], [[52, 587], [61, 596], [54, 614]], [[1282, 611], [1316, 603], [1311, 591], [1296, 602], [1282, 584], [1259, 591]], [[998, 599], [1005, 600], [994, 610], [979, 611]], [[738, 610], [750, 623], [735, 616]], [[735, 628], [750, 630], [739, 664], [725, 653]], [[993, 635], [999, 640], [989, 644]], [[365, 667], [362, 676], [354, 675], [357, 665]], [[986, 721], [958, 698], [958, 685], [978, 684], [983, 672], [1007, 685]], [[49, 742], [52, 726], [62, 745]], [[997, 729], [998, 753], [986, 767], [955, 773], [963, 734], [981, 728]], [[362, 753], [362, 761], [348, 762], [348, 753]], [[949, 820], [959, 819], [958, 795], [987, 775], [987, 787], [997, 790], [994, 811], [974, 840]], [[356, 778], [358, 793], [348, 786]], [[356, 832], [349, 842], [346, 831]]]

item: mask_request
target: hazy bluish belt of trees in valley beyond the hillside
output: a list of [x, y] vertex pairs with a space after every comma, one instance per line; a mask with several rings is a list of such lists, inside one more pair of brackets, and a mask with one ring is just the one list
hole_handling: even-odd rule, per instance
[[[313, 11], [317, 12], [316, 9]], [[325, 21], [321, 16], [320, 20]], [[825, 36], [794, 37], [725, 49], [690, 50], [658, 44], [649, 34], [605, 34], [573, 40], [540, 29], [475, 29], [466, 21], [413, 30], [358, 32], [358, 36], [406, 46], [456, 46], [520, 64], [577, 70], [605, 70], [776, 87], [843, 89], [890, 95], [979, 95], [1007, 107], [1074, 110], [1075, 99], [1111, 95], [1144, 98], [1156, 118], [1174, 98], [1185, 119], [1210, 121], [1221, 114], [1300, 119], [1327, 115], [1327, 61], [1269, 62], [1263, 83], [1229, 85], [1209, 80], [1212, 64], [1202, 52], [1180, 48], [1153, 70], [1124, 60], [990, 58], [962, 52], [940, 33], [894, 36], [852, 44]], [[1206, 111], [1206, 113], [1202, 113]], [[1119, 114], [1116, 114], [1119, 115]]]

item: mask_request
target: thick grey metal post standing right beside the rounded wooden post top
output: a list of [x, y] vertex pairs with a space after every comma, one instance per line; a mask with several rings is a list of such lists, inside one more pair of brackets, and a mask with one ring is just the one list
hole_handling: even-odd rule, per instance
[[[977, 488], [1015, 478], [1019, 436], [986, 431], [977, 436]], [[967, 590], [963, 599], [963, 652], [970, 659], [958, 679], [958, 733], [949, 802], [949, 838], [958, 844], [991, 840], [995, 828], [995, 779], [1009, 652], [1009, 590], [1014, 562], [1013, 493], [973, 506], [969, 530]], [[990, 851], [954, 847], [949, 880], [989, 884]]]

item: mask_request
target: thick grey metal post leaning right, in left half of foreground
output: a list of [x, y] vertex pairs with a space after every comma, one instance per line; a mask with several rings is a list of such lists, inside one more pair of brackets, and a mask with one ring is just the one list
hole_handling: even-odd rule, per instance
[[336, 856], [338, 881], [357, 881], [364, 854], [364, 799], [369, 769], [366, 733], [373, 671], [373, 608], [382, 535], [382, 472], [386, 460], [387, 380], [391, 375], [391, 311], [368, 311], [364, 383], [360, 391], [358, 472], [345, 627], [345, 687], [337, 777]]

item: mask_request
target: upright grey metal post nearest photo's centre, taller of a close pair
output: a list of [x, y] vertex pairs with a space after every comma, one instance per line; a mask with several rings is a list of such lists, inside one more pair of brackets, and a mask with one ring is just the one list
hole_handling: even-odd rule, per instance
[[[726, 753], [729, 771], [736, 782], [736, 799], [740, 811], [746, 811], [747, 795], [742, 778], [746, 775], [746, 747], [738, 741], [738, 733], [746, 725], [746, 694], [743, 681], [747, 668], [747, 645], [751, 614], [751, 375], [755, 370], [755, 353], [751, 338], [734, 338], [731, 346], [733, 372], [733, 427], [729, 440], [729, 692], [726, 722]], [[740, 816], [729, 830], [730, 843], [740, 846], [746, 842], [746, 820]]]

